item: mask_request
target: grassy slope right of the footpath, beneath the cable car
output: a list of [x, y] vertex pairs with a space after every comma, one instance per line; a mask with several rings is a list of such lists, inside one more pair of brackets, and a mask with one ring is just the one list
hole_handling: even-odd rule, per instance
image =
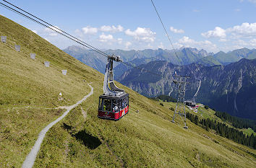
[[[130, 94], [131, 106], [127, 116], [117, 122], [98, 119], [95, 102], [101, 90], [96, 91], [82, 104], [88, 112], [86, 120], [77, 107], [47, 134], [35, 167], [253, 167], [255, 164], [255, 159], [247, 154], [255, 150], [209, 133], [189, 121], [189, 130], [185, 130], [180, 118], [176, 124], [170, 122], [173, 112], [167, 105], [162, 107], [159, 102], [125, 89]], [[135, 112], [137, 109], [140, 111]], [[69, 125], [69, 129], [63, 125]], [[97, 138], [101, 145], [90, 149], [75, 138], [81, 131]], [[52, 149], [59, 150], [61, 155], [56, 156]]]

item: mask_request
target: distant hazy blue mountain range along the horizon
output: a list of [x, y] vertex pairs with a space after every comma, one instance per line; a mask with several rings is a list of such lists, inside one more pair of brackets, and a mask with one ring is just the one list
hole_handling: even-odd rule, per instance
[[[95, 68], [101, 73], [105, 73], [106, 58], [100, 54], [75, 45], [64, 49], [64, 52], [82, 61], [82, 63]], [[204, 66], [214, 66], [234, 63], [242, 58], [256, 58], [256, 50], [249, 50], [247, 48], [233, 50], [228, 53], [220, 51], [216, 54], [208, 53], [206, 50], [197, 50], [197, 48], [184, 47], [176, 50], [163, 50], [158, 48], [158, 50], [104, 50], [104, 52], [109, 55], [119, 55], [126, 64], [132, 64], [132, 66], [139, 66], [143, 63], [149, 63], [150, 61], [167, 61], [176, 65], [198, 63]], [[114, 63], [115, 76], [121, 76], [121, 74], [124, 74], [129, 68], [132, 68], [132, 66], [127, 66], [124, 63]]]

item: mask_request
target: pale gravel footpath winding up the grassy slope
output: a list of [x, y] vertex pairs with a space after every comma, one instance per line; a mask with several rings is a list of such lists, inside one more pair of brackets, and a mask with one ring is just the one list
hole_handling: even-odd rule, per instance
[[70, 110], [72, 110], [74, 107], [77, 107], [77, 105], [80, 105], [83, 101], [85, 101], [88, 97], [90, 97], [90, 95], [93, 94], [93, 87], [91, 87], [90, 84], [88, 84], [89, 87], [90, 87], [90, 93], [89, 94], [87, 94], [85, 97], [83, 97], [82, 100], [78, 101], [76, 104], [68, 106], [68, 107], [64, 107], [65, 109], [67, 109], [67, 111], [64, 112], [64, 114], [61, 115], [61, 117], [59, 117], [56, 120], [54, 120], [53, 122], [51, 122], [49, 125], [46, 126], [46, 128], [43, 128], [43, 130], [40, 131], [40, 133], [38, 135], [38, 140], [35, 141], [35, 145], [31, 149], [30, 153], [27, 155], [25, 161], [22, 164], [22, 168], [33, 167], [36, 155], [38, 154], [38, 151], [40, 150], [40, 145], [43, 142], [43, 138], [46, 136], [47, 131], [52, 126], [54, 126], [56, 123], [58, 123], [60, 120], [62, 120], [69, 113]]

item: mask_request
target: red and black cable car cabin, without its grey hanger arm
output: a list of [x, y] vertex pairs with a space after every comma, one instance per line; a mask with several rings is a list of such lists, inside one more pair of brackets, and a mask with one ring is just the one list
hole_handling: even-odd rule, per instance
[[129, 94], [119, 97], [100, 96], [98, 104], [98, 118], [119, 120], [129, 111]]

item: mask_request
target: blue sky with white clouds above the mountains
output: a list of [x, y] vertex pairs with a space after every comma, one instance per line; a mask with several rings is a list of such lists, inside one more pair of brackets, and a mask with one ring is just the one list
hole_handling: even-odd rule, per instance
[[[142, 50], [171, 45], [150, 0], [9, 0], [101, 49]], [[256, 0], [154, 0], [174, 48], [208, 52], [256, 48]], [[64, 49], [76, 43], [0, 6], [0, 14]]]

